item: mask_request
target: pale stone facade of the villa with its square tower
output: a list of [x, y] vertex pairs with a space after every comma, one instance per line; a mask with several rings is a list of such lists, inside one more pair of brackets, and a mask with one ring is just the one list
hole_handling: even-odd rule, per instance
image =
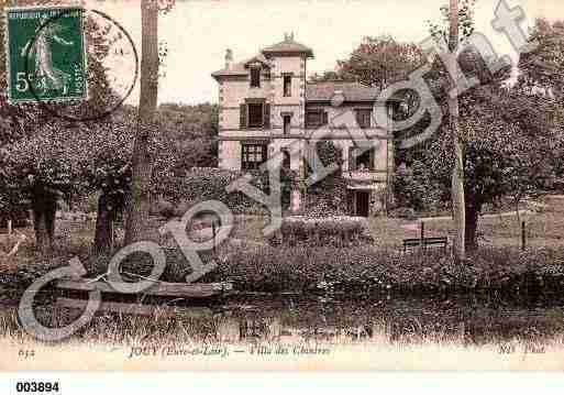
[[[388, 125], [376, 124], [379, 91], [356, 83], [307, 83], [313, 52], [287, 35], [251, 59], [212, 74], [219, 84], [219, 166], [245, 171], [285, 152], [285, 165], [303, 175], [308, 146], [331, 140], [342, 149], [350, 211], [374, 216], [391, 199], [394, 142]], [[309, 145], [308, 145], [309, 143]], [[291, 208], [300, 197], [292, 194]]]

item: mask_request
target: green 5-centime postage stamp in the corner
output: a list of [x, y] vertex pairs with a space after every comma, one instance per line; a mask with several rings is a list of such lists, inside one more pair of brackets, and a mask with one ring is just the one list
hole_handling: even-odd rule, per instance
[[5, 11], [10, 102], [87, 98], [82, 14], [79, 7]]

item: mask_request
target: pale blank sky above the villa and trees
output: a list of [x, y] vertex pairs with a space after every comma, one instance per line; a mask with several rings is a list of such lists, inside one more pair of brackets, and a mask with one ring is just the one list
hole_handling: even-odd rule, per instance
[[[563, 0], [507, 2], [522, 7], [524, 30], [537, 18], [564, 20]], [[159, 17], [158, 36], [166, 43], [168, 55], [159, 79], [158, 101], [217, 102], [218, 86], [210, 74], [223, 68], [225, 50], [233, 51], [235, 62], [242, 61], [283, 41], [286, 32], [294, 32], [296, 41], [313, 50], [308, 73], [334, 69], [336, 59], [347, 58], [367, 35], [390, 34], [399, 42], [420, 43], [428, 36], [427, 21], [440, 21], [440, 8], [446, 3], [447, 0], [176, 0], [175, 8]], [[507, 37], [491, 28], [497, 3], [498, 0], [477, 1], [476, 30], [489, 37], [498, 54], [516, 59], [517, 53]], [[118, 21], [141, 56], [139, 0], [87, 0], [86, 4]], [[130, 81], [132, 59], [109, 65], [110, 73]], [[126, 102], [139, 102], [139, 86]]]

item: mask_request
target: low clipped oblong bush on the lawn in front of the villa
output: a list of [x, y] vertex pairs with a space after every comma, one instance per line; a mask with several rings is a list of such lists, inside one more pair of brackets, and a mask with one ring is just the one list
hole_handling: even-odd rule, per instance
[[272, 245], [349, 246], [371, 242], [368, 223], [358, 217], [308, 218], [286, 217]]

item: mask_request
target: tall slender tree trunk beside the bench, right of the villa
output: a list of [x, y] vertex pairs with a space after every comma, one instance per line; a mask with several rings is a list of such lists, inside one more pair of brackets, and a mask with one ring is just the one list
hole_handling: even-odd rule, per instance
[[454, 149], [454, 166], [452, 173], [452, 206], [454, 213], [454, 226], [456, 229], [456, 238], [454, 240], [454, 256], [458, 262], [461, 262], [466, 259], [466, 213], [464, 205], [464, 160], [463, 146], [458, 134], [458, 95], [456, 89], [458, 78], [456, 75], [456, 52], [458, 48], [458, 0], [450, 0], [450, 23], [449, 69], [450, 73], [454, 73], [454, 75], [451, 75], [451, 92], [449, 96], [450, 129]]

